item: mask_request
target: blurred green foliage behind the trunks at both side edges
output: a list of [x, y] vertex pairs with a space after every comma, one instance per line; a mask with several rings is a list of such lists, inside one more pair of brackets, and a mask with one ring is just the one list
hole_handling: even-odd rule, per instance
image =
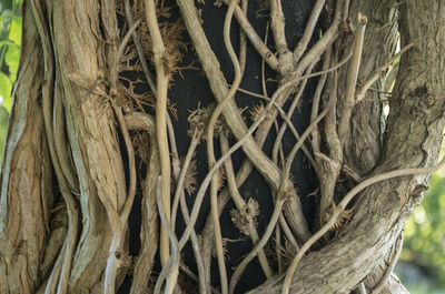
[[[3, 153], [11, 93], [20, 59], [21, 11], [23, 0], [0, 0], [0, 154]], [[0, 155], [1, 156], [1, 155]], [[405, 226], [400, 260], [422, 268], [428, 278], [406, 280], [404, 267], [397, 272], [415, 294], [445, 293], [445, 172], [434, 174], [423, 204]]]

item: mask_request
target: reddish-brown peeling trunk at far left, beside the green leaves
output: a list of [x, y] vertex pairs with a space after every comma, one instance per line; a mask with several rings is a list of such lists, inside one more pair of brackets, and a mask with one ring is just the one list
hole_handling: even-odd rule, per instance
[[[30, 10], [26, 13], [29, 16]], [[39, 91], [43, 53], [30, 18], [26, 18], [23, 28], [22, 55], [27, 58], [20, 63], [14, 90], [19, 99], [11, 110], [1, 173], [1, 293], [32, 293], [41, 275], [48, 274], [48, 263], [55, 261], [63, 237], [57, 237], [60, 225], [51, 224], [51, 219], [57, 219], [57, 212], [50, 211], [56, 195]], [[49, 240], [52, 243], [47, 246]], [[40, 267], [43, 261], [46, 272]]]

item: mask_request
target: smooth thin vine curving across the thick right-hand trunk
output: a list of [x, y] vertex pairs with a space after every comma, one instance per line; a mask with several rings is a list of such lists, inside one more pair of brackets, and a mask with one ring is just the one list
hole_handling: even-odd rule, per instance
[[382, 174], [377, 174], [374, 175], [365, 181], [363, 181], [362, 183], [359, 183], [358, 185], [356, 185], [355, 187], [353, 187], [346, 195], [345, 197], [340, 201], [340, 203], [337, 205], [337, 207], [335, 207], [335, 210], [333, 211], [333, 214], [330, 215], [329, 220], [326, 222], [325, 225], [323, 225], [323, 227], [315, 233], [301, 247], [301, 250], [298, 252], [298, 254], [294, 257], [284, 284], [283, 284], [283, 291], [281, 294], [288, 294], [289, 293], [289, 288], [290, 288], [290, 282], [291, 278], [294, 276], [295, 270], [298, 266], [298, 263], [300, 262], [301, 257], [304, 256], [304, 254], [310, 249], [312, 245], [314, 245], [315, 242], [317, 242], [324, 234], [326, 234], [330, 227], [333, 227], [333, 225], [337, 222], [337, 217], [342, 214], [342, 212], [346, 209], [346, 206], [349, 204], [349, 202], [359, 193], [362, 192], [362, 190], [385, 181], [385, 180], [390, 180], [394, 178], [399, 178], [399, 176], [406, 176], [406, 175], [418, 175], [418, 174], [426, 174], [426, 173], [433, 173], [435, 171], [441, 170], [442, 168], [445, 166], [445, 158], [442, 159], [442, 161], [433, 166], [428, 166], [428, 168], [413, 168], [413, 169], [402, 169], [402, 170], [395, 170], [395, 171], [390, 171], [390, 172], [386, 172], [386, 173], [382, 173]]

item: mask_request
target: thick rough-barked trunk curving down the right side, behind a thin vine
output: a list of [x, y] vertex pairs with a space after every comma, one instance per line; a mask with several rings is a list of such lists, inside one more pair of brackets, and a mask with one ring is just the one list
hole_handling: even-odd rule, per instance
[[[445, 50], [444, 14], [442, 1], [408, 0], [402, 6], [402, 47], [409, 42], [417, 45], [402, 58], [384, 150], [374, 174], [437, 161], [445, 107], [441, 58]], [[354, 205], [350, 223], [332, 243], [301, 261], [291, 293], [352, 291], [390, 251], [406, 219], [422, 201], [423, 193], [413, 191], [426, 185], [428, 179], [427, 174], [405, 176], [366, 189]], [[280, 293], [278, 281], [251, 293]]]

